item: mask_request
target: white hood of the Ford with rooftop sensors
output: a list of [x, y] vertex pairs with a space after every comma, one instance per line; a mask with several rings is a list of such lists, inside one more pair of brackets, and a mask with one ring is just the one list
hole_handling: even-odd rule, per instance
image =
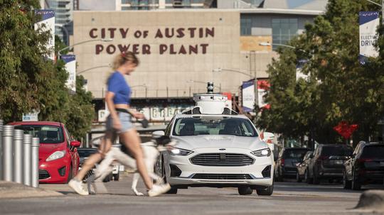
[[268, 148], [259, 137], [240, 137], [232, 135], [173, 136], [177, 148], [195, 150], [196, 148], [242, 148], [260, 150]]

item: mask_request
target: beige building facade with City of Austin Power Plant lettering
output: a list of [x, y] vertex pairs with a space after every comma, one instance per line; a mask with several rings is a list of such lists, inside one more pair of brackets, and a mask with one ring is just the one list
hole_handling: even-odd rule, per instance
[[[75, 11], [73, 43], [87, 41], [74, 48], [77, 71], [87, 79], [96, 109], [104, 109], [110, 65], [124, 50], [141, 61], [127, 77], [132, 106], [149, 108], [144, 112], [150, 119], [166, 121], [193, 105], [193, 93], [206, 92], [208, 81], [216, 92], [238, 95], [243, 81], [268, 78], [267, 65], [278, 57], [274, 48], [304, 32], [305, 24], [323, 13], [326, 0], [215, 4], [219, 9]], [[105, 38], [112, 41], [102, 42]]]

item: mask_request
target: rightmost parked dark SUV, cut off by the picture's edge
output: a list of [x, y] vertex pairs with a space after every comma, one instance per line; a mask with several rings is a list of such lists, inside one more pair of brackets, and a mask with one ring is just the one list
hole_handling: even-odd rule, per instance
[[362, 184], [383, 184], [384, 144], [361, 141], [345, 163], [344, 189], [361, 189]]

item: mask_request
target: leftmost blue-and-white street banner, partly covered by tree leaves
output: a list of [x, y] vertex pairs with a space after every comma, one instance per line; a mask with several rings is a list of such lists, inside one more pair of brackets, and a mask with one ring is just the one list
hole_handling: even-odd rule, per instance
[[41, 28], [43, 32], [50, 32], [50, 40], [46, 44], [46, 48], [50, 51], [50, 54], [46, 57], [50, 60], [55, 60], [55, 11], [35, 10], [35, 14], [41, 15], [41, 21], [35, 23], [35, 30]]

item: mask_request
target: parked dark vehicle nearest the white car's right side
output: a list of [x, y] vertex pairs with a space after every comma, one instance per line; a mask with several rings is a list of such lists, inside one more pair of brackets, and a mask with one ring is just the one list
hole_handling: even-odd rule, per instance
[[302, 162], [309, 148], [283, 148], [274, 166], [274, 177], [282, 182], [284, 177], [296, 177], [297, 163]]

